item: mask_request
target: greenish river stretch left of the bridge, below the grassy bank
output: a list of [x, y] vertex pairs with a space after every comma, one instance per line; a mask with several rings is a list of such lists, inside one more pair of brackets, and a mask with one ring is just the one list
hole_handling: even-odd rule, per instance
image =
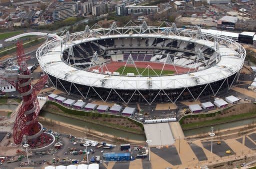
[[128, 139], [131, 139], [131, 140], [145, 141], [145, 136], [144, 135], [138, 135], [138, 134], [133, 134], [133, 133], [129, 133], [129, 132], [124, 132], [124, 131], [120, 131], [120, 130], [117, 130], [117, 129], [113, 129], [113, 128], [109, 128], [109, 127], [105, 127], [105, 126], [100, 126], [100, 125], [97, 125], [97, 124], [88, 123], [88, 122], [84, 122], [84, 121], [77, 120], [77, 119], [70, 119], [68, 117], [52, 114], [52, 113], [45, 112], [45, 111], [41, 111], [40, 116], [48, 118], [48, 119], [56, 120], [56, 121], [59, 121], [59, 122], [71, 124], [71, 125], [74, 125], [74, 126], [95, 130], [95, 131], [98, 131], [98, 132], [102, 132], [102, 133], [117, 136], [117, 137], [128, 138]]

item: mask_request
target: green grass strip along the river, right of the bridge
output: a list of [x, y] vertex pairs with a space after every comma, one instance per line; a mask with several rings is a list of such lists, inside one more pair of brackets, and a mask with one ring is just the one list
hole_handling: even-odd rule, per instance
[[243, 118], [249, 118], [249, 117], [253, 117], [253, 116], [256, 116], [255, 112], [243, 113], [243, 114], [239, 114], [239, 115], [221, 117], [221, 118], [207, 120], [207, 121], [203, 121], [203, 122], [182, 124], [181, 127], [182, 127], [182, 129], [189, 129], [189, 128], [194, 128], [194, 127], [198, 127], [198, 126], [214, 125], [214, 124], [218, 124], [218, 123], [229, 122], [229, 121], [243, 119]]

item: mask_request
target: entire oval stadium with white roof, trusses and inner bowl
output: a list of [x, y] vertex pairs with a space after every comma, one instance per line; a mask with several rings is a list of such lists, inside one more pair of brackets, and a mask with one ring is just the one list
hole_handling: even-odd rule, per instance
[[42, 70], [67, 94], [125, 104], [196, 100], [230, 89], [246, 52], [234, 40], [175, 24], [85, 27], [36, 51]]

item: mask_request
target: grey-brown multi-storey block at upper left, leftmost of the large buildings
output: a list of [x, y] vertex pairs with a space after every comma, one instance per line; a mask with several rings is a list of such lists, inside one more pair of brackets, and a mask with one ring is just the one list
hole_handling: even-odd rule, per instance
[[52, 11], [52, 18], [54, 21], [66, 19], [73, 16], [73, 9], [71, 7], [59, 7]]

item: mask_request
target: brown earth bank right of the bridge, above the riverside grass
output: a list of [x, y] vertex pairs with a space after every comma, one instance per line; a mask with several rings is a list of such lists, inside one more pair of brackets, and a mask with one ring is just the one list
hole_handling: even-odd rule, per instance
[[202, 122], [202, 121], [212, 120], [216, 118], [227, 117], [231, 115], [238, 115], [242, 113], [251, 112], [254, 109], [256, 109], [256, 105], [253, 103], [237, 104], [227, 110], [223, 110], [220, 115], [216, 115], [215, 117], [186, 118], [184, 120], [184, 123], [188, 124], [188, 123]]

